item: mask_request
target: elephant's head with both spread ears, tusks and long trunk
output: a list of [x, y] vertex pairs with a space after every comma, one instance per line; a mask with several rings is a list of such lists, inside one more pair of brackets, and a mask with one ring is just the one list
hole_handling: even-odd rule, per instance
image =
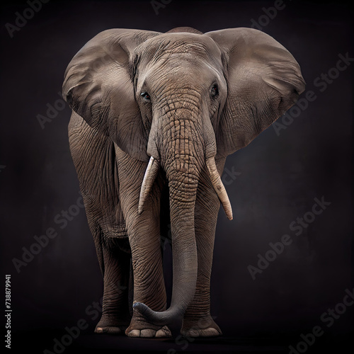
[[72, 59], [63, 86], [72, 109], [134, 159], [149, 161], [139, 213], [157, 171], [166, 171], [173, 239], [171, 307], [158, 315], [136, 304], [156, 324], [183, 312], [193, 299], [194, 207], [201, 171], [208, 171], [232, 219], [215, 159], [249, 144], [302, 91], [304, 80], [290, 52], [250, 28], [205, 34], [189, 28], [164, 34], [107, 30]]

